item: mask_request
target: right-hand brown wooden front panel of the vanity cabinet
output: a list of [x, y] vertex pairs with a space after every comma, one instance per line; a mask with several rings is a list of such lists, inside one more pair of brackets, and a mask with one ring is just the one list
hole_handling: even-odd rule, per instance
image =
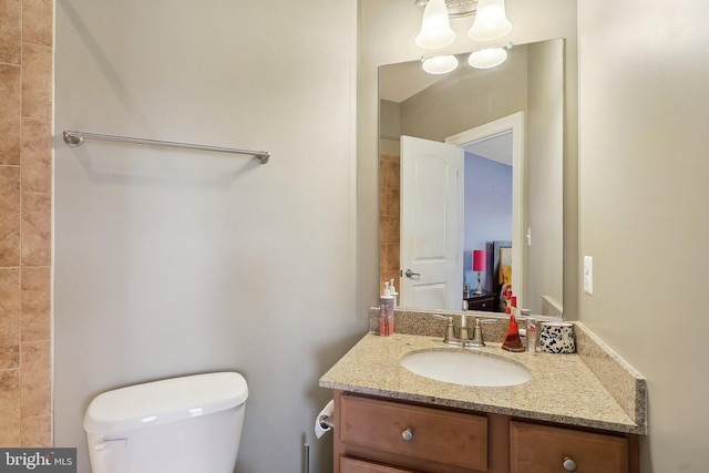
[[[564, 467], [566, 459], [576, 470]], [[628, 459], [623, 436], [510, 422], [511, 473], [628, 473]]]

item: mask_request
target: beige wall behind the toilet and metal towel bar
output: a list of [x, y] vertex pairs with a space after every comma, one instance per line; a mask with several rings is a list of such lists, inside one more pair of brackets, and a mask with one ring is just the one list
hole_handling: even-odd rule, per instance
[[[166, 14], [169, 12], [169, 14]], [[318, 379], [367, 331], [356, 310], [356, 6], [56, 2], [55, 128], [266, 150], [56, 143], [59, 446], [105, 390], [236, 370], [237, 472], [332, 465]]]

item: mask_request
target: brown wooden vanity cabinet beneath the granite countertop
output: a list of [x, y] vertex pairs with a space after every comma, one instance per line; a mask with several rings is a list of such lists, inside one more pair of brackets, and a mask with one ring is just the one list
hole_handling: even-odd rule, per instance
[[335, 473], [639, 473], [638, 436], [335, 391]]

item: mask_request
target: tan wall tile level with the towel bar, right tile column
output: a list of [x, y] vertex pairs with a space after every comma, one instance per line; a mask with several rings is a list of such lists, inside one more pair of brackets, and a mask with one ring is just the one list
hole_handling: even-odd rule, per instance
[[52, 122], [22, 120], [22, 192], [52, 192]]

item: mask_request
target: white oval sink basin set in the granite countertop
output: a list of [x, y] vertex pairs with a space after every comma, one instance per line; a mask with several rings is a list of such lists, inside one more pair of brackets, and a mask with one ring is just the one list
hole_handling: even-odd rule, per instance
[[400, 363], [422, 377], [464, 385], [515, 385], [532, 379], [512, 361], [462, 351], [422, 351], [407, 354]]

